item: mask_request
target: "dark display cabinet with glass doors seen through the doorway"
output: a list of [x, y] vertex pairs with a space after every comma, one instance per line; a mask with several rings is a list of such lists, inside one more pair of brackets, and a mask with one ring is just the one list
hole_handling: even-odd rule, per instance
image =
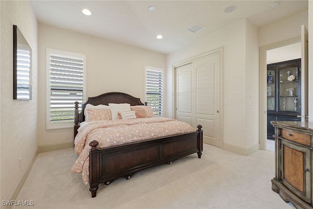
[[267, 138], [274, 139], [270, 121], [301, 121], [301, 59], [267, 66]]

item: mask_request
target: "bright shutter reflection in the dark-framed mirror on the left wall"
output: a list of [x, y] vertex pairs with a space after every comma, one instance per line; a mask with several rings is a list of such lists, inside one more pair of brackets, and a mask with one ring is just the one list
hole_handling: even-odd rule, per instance
[[17, 99], [30, 97], [30, 51], [17, 49]]

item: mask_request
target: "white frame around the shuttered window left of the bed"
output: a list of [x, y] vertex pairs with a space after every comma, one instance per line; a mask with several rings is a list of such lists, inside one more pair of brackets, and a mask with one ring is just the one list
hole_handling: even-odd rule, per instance
[[[50, 56], [57, 55], [57, 56], [65, 56], [70, 58], [78, 58], [83, 59], [83, 102], [86, 101], [86, 55], [85, 54], [78, 54], [73, 52], [67, 52], [62, 50], [56, 50], [47, 48], [46, 49], [46, 129], [63, 129], [63, 128], [73, 128], [74, 127], [74, 120], [73, 121], [66, 121], [66, 122], [58, 122], [58, 123], [51, 123], [50, 122]], [[80, 103], [81, 105], [82, 103]], [[73, 111], [75, 108], [75, 104], [73, 102]]]

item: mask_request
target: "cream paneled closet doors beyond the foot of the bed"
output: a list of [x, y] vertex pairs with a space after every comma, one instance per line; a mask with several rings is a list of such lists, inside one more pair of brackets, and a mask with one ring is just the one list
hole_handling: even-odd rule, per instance
[[220, 147], [220, 54], [176, 68], [176, 119], [203, 128], [203, 142]]

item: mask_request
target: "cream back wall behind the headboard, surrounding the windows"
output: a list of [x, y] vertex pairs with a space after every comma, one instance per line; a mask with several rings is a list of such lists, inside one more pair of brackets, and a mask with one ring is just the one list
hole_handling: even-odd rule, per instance
[[[164, 54], [88, 36], [45, 24], [38, 26], [38, 145], [73, 143], [73, 128], [46, 130], [46, 48], [86, 54], [87, 96], [107, 92], [124, 92], [145, 98], [145, 66], [165, 69]], [[74, 106], [74, 105], [73, 105]]]

